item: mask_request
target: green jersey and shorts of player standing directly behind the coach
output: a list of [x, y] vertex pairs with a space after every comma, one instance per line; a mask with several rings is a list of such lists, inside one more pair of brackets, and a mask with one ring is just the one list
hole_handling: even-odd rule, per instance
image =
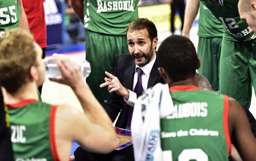
[[84, 0], [84, 25], [88, 30], [86, 59], [92, 72], [87, 83], [95, 97], [103, 104], [108, 99], [108, 90], [101, 89], [105, 71], [114, 72], [116, 59], [128, 53], [126, 28], [138, 18], [136, 0]]

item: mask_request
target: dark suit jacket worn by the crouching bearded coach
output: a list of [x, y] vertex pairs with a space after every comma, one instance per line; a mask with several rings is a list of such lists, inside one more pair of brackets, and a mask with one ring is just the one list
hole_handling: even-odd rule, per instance
[[[161, 78], [157, 68], [158, 61], [156, 56], [156, 62], [153, 65], [150, 78], [148, 79], [148, 88], [156, 85], [156, 83], [163, 83], [163, 78]], [[130, 89], [130, 91], [132, 91], [134, 83], [134, 72], [135, 63], [130, 54], [123, 54], [117, 58], [114, 75], [119, 79], [120, 83], [125, 88]], [[116, 127], [126, 128], [129, 108], [130, 106], [127, 105], [126, 101], [124, 101], [124, 97], [119, 96], [115, 92], [109, 94], [108, 101], [105, 105], [105, 110], [113, 122], [121, 111], [116, 122]]]

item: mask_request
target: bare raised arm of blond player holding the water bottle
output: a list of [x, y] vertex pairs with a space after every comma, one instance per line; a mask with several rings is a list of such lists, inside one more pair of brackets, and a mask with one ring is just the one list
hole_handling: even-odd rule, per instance
[[82, 114], [72, 109], [65, 112], [65, 108], [58, 108], [56, 118], [60, 121], [56, 120], [56, 126], [59, 125], [64, 128], [62, 131], [66, 131], [62, 136], [64, 135], [63, 137], [69, 141], [78, 141], [89, 151], [101, 153], [113, 151], [119, 141], [112, 122], [85, 83], [80, 66], [67, 57], [53, 56], [53, 58], [61, 71], [62, 78], [51, 80], [69, 85], [79, 99], [84, 112]]

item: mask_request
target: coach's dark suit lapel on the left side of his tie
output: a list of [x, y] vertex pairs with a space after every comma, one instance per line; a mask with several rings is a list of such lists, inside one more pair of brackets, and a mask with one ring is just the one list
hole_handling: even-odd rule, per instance
[[124, 71], [124, 87], [130, 89], [131, 91], [134, 83], [134, 71], [135, 63], [134, 60], [131, 60], [129, 66]]

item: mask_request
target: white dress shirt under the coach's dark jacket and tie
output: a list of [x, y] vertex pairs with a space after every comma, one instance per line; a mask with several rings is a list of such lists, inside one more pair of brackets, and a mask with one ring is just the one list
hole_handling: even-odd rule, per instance
[[[142, 73], [142, 88], [143, 88], [142, 94], [145, 93], [148, 89], [148, 79], [150, 77], [150, 73], [151, 73], [151, 70], [153, 68], [153, 65], [155, 64], [155, 61], [156, 61], [156, 54], [155, 54], [155, 57], [153, 58], [153, 60], [151, 60], [151, 62], [149, 62], [144, 67], [139, 67], [139, 65], [135, 64], [135, 71], [136, 71], [136, 68], [139, 67], [139, 68], [142, 69], [142, 72], [143, 72]], [[135, 88], [137, 80], [138, 80], [138, 74], [137, 74], [137, 72], [134, 72], [134, 85], [132, 87], [133, 90]], [[124, 101], [126, 101], [126, 99], [124, 99]], [[128, 105], [134, 107], [134, 104], [135, 104], [136, 101], [137, 101], [137, 94], [134, 91], [129, 90], [129, 98], [126, 101], [126, 103]]]

